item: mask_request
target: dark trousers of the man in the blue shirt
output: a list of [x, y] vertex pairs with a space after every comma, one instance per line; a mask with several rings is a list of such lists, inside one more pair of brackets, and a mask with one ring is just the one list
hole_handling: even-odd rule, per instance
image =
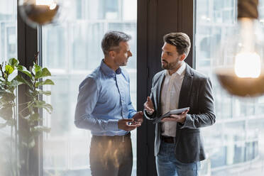
[[92, 176], [130, 176], [133, 154], [130, 133], [126, 136], [92, 136]]

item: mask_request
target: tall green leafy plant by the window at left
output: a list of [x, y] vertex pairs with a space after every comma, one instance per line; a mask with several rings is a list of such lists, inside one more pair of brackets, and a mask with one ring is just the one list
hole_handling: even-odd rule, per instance
[[[5, 123], [0, 123], [0, 128], [5, 126], [11, 126], [11, 145], [16, 148], [15, 158], [13, 160], [18, 160], [18, 152], [23, 154], [23, 157], [19, 159], [19, 163], [12, 163], [12, 175], [18, 175], [18, 170], [21, 167], [26, 167], [26, 175], [30, 176], [29, 172], [29, 155], [30, 150], [35, 146], [35, 139], [40, 136], [43, 132], [50, 132], [50, 128], [40, 125], [42, 117], [40, 116], [40, 110], [45, 109], [48, 113], [53, 111], [53, 107], [43, 101], [41, 97], [50, 96], [50, 91], [43, 91], [42, 87], [45, 85], [54, 85], [51, 79], [45, 79], [50, 77], [50, 71], [46, 67], [40, 67], [38, 65], [38, 54], [35, 55], [35, 62], [31, 70], [27, 70], [23, 65], [18, 65], [18, 60], [12, 58], [7, 64], [2, 64], [1, 78], [0, 78], [0, 116], [5, 120]], [[10, 75], [18, 71], [13, 79], [9, 80]], [[28, 87], [28, 91], [25, 92], [28, 97], [28, 101], [23, 104], [16, 104], [17, 97], [15, 94], [15, 89], [18, 85], [25, 84]], [[18, 106], [23, 106], [18, 114], [16, 111]], [[18, 119], [17, 117], [23, 119], [23, 123], [26, 124], [24, 128], [17, 128]], [[14, 133], [13, 133], [14, 128]], [[19, 137], [19, 151], [18, 148], [18, 137]], [[13, 155], [13, 152], [11, 152]], [[15, 169], [13, 169], [15, 168]]]

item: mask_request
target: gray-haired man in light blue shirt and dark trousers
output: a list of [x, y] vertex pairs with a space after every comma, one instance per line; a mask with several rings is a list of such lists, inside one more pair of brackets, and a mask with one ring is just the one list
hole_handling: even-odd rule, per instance
[[131, 104], [129, 77], [120, 66], [132, 56], [131, 36], [109, 31], [101, 41], [101, 65], [79, 85], [75, 126], [92, 132], [90, 167], [93, 176], [131, 175], [130, 132], [141, 126], [143, 113]]

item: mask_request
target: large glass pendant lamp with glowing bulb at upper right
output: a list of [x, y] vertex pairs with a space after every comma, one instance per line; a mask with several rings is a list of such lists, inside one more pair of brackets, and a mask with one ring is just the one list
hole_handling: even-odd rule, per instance
[[263, 30], [258, 23], [258, 0], [238, 0], [237, 24], [221, 41], [215, 74], [221, 86], [238, 97], [264, 94]]

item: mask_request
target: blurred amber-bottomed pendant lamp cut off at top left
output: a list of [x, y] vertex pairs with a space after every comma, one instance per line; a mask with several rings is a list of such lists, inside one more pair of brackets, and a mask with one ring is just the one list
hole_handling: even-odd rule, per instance
[[18, 7], [24, 21], [33, 28], [55, 23], [61, 9], [58, 0], [19, 0]]

